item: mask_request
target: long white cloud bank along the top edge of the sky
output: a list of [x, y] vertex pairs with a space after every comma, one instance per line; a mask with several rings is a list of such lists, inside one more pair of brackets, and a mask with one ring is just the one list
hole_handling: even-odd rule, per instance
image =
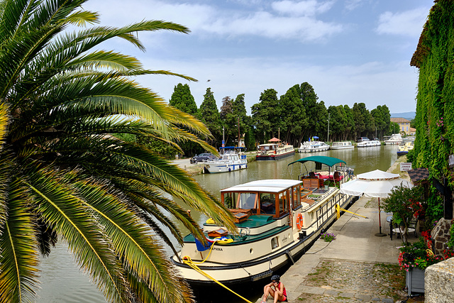
[[[94, 4], [97, 1], [93, 1]], [[87, 9], [90, 1], [87, 3]], [[235, 6], [218, 9], [216, 6], [192, 3], [169, 3], [167, 1], [112, 0], [101, 10], [104, 24], [123, 26], [144, 19], [172, 21], [187, 26], [192, 35], [218, 35], [237, 37], [255, 35], [265, 38], [297, 39], [300, 41], [323, 40], [343, 31], [343, 26], [327, 23], [316, 14], [331, 9], [333, 2], [324, 1], [277, 1], [268, 7]], [[96, 9], [94, 9], [96, 10]], [[156, 36], [156, 35], [155, 35]]]

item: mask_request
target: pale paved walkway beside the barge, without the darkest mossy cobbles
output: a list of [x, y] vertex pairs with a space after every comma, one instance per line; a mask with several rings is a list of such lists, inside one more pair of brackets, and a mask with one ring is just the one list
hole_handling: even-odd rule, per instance
[[[346, 212], [327, 231], [336, 235], [335, 241], [317, 240], [314, 246], [282, 275], [281, 280], [286, 287], [289, 302], [394, 302], [383, 292], [372, 291], [379, 280], [372, 277], [370, 271], [366, 270], [365, 273], [365, 268], [376, 263], [398, 264], [398, 247], [402, 246], [402, 240], [396, 236], [393, 240], [389, 236], [375, 236], [380, 230], [378, 199], [361, 197], [348, 210], [366, 216], [367, 219]], [[388, 234], [387, 216], [382, 211], [382, 233]], [[411, 234], [409, 241], [416, 241], [416, 238]], [[320, 268], [323, 262], [337, 264], [339, 271], [344, 273], [343, 277], [338, 275], [338, 279], [333, 280], [330, 285], [313, 286], [309, 274]], [[343, 281], [358, 279], [358, 276], [362, 276], [362, 287], [360, 282], [353, 283], [354, 287], [338, 287]], [[309, 298], [311, 295], [319, 298], [314, 301], [312, 296], [312, 300], [306, 301], [308, 294]], [[320, 301], [320, 298], [323, 300]], [[271, 297], [267, 302], [272, 302]]]

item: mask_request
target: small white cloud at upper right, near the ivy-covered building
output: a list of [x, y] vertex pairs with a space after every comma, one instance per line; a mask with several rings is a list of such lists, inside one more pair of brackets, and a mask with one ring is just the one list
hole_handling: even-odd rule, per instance
[[379, 34], [419, 37], [427, 16], [428, 11], [426, 7], [401, 13], [387, 11], [380, 15], [379, 25], [376, 31]]

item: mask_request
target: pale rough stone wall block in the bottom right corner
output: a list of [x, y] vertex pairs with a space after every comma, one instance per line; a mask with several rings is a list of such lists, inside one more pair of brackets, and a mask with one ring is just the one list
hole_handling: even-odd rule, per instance
[[454, 258], [426, 268], [424, 282], [425, 302], [454, 302]]

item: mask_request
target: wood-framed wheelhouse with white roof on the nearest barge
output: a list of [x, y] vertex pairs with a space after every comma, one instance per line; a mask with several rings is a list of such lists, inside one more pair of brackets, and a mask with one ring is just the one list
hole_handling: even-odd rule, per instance
[[258, 180], [221, 190], [221, 202], [235, 214], [269, 215], [280, 218], [301, 204], [301, 182]]

